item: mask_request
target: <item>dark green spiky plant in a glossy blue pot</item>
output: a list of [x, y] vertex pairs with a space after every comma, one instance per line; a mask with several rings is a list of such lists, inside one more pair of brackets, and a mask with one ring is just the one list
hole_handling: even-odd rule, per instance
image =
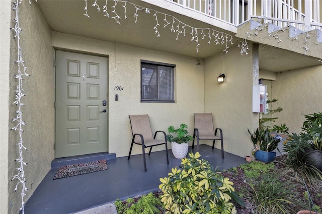
[[251, 135], [252, 142], [254, 144], [254, 156], [257, 160], [269, 163], [273, 161], [276, 157], [276, 149], [278, 149], [278, 143], [281, 138], [277, 136], [272, 136], [269, 128], [259, 129], [257, 128], [254, 134], [248, 130]]

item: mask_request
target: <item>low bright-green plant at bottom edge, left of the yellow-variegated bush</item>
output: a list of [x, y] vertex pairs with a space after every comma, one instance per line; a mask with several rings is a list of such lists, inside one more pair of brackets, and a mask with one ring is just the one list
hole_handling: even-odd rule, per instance
[[128, 198], [124, 203], [117, 199], [114, 202], [117, 213], [123, 214], [153, 214], [159, 213], [160, 210], [156, 206], [161, 206], [162, 203], [152, 192], [143, 195], [135, 202], [133, 198]]

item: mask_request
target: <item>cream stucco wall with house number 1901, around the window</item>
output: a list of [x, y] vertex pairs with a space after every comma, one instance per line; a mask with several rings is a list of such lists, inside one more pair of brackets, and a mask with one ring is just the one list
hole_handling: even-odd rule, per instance
[[[109, 152], [117, 157], [127, 156], [132, 139], [128, 115], [148, 114], [152, 131], [166, 131], [170, 125], [186, 123], [193, 134], [193, 113], [204, 110], [204, 65], [195, 58], [153, 51], [53, 32], [57, 49], [101, 54], [109, 57]], [[140, 60], [175, 64], [176, 103], [140, 102]], [[124, 87], [122, 91], [115, 86]], [[115, 101], [118, 94], [118, 101]], [[191, 143], [190, 143], [191, 144]], [[170, 144], [169, 144], [170, 146]], [[171, 147], [170, 147], [171, 148]], [[164, 150], [164, 146], [153, 148]], [[132, 154], [140, 154], [139, 146]]]

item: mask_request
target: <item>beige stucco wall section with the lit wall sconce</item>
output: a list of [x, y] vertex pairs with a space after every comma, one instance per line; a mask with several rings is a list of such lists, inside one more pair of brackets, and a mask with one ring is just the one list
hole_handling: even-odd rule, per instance
[[[224, 151], [241, 157], [252, 154], [247, 129], [258, 122], [258, 114], [252, 113], [251, 44], [249, 48], [249, 55], [241, 56], [238, 48], [232, 48], [205, 60], [205, 112], [212, 113], [215, 126], [222, 129]], [[217, 83], [219, 73], [225, 74], [223, 83]], [[216, 145], [220, 148], [219, 142]]]

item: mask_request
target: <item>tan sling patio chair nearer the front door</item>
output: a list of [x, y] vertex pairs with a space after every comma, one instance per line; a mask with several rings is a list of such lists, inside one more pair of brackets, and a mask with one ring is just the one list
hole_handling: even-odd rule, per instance
[[[130, 118], [133, 137], [132, 137], [129, 156], [127, 159], [130, 160], [133, 144], [141, 145], [142, 146], [144, 171], [146, 171], [145, 148], [150, 147], [150, 151], [149, 151], [149, 155], [150, 155], [153, 146], [165, 144], [166, 145], [166, 154], [167, 154], [167, 164], [169, 164], [168, 144], [167, 144], [166, 133], [163, 131], [156, 131], [154, 133], [154, 137], [153, 137], [148, 115], [129, 115], [129, 118]], [[165, 140], [156, 140], [155, 139], [156, 134], [158, 132], [164, 134]]]

